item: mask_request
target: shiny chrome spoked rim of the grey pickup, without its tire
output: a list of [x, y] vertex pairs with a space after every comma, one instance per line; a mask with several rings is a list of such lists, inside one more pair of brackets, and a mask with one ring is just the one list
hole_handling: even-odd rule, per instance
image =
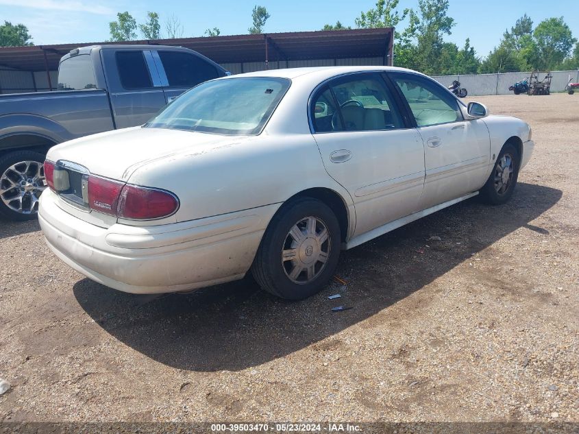
[[44, 189], [46, 182], [42, 162], [16, 162], [0, 176], [0, 199], [16, 213], [36, 213], [38, 198]]

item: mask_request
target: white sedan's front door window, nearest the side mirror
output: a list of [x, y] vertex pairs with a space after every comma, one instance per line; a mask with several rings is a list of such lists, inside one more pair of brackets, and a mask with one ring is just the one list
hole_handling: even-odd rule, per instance
[[426, 127], [463, 120], [458, 102], [446, 89], [407, 75], [394, 75], [393, 79], [408, 101], [417, 126]]

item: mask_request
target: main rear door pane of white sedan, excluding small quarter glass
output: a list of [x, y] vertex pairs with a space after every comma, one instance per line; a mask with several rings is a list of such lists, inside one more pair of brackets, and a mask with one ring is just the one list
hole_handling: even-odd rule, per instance
[[338, 79], [330, 88], [338, 100], [346, 131], [393, 130], [404, 122], [382, 77]]

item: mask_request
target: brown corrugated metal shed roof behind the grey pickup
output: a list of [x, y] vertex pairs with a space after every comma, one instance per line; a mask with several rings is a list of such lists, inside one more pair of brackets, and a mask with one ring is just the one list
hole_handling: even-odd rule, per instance
[[[217, 63], [277, 60], [386, 58], [392, 46], [393, 28], [258, 35], [134, 40], [127, 43], [74, 43], [0, 48], [0, 68], [43, 71], [58, 68], [64, 54], [77, 47], [108, 44], [177, 45], [198, 51]], [[267, 49], [266, 49], [267, 47]], [[45, 62], [46, 56], [46, 62]], [[390, 62], [388, 62], [390, 63]]]

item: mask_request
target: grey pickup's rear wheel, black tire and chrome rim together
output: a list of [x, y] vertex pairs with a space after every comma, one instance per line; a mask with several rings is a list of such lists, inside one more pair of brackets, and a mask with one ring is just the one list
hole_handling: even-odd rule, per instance
[[38, 198], [46, 188], [45, 157], [16, 151], [0, 157], [0, 217], [31, 220], [38, 213]]

